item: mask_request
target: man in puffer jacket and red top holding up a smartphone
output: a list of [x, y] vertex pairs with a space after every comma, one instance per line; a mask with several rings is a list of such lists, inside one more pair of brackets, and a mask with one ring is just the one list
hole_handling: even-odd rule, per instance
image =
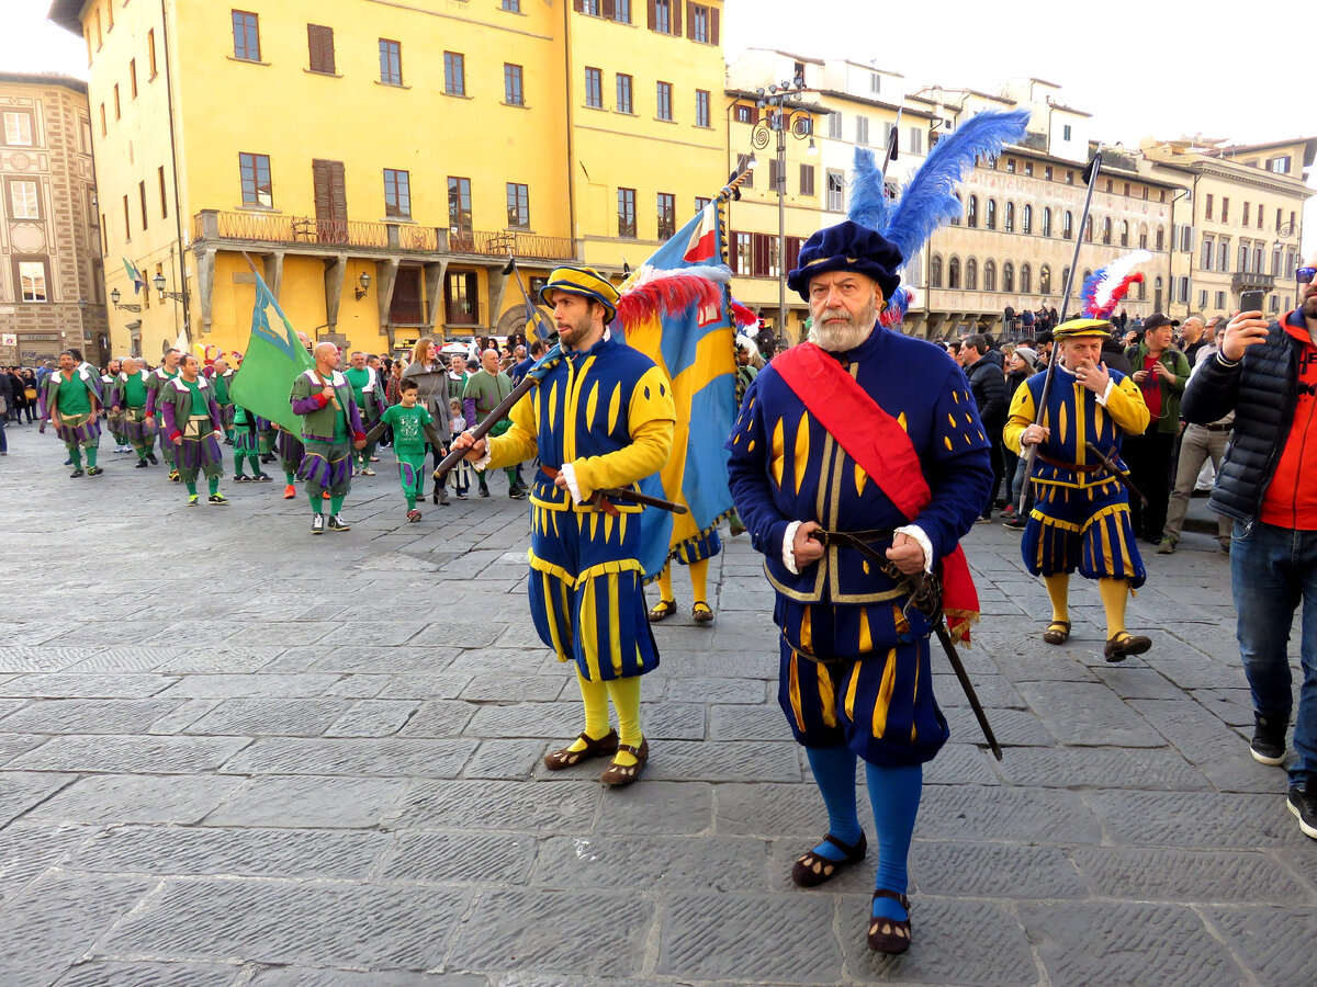
[[1317, 251], [1299, 268], [1299, 308], [1275, 322], [1237, 312], [1184, 395], [1191, 422], [1231, 411], [1234, 441], [1208, 507], [1234, 521], [1230, 570], [1252, 694], [1250, 753], [1285, 759], [1293, 712], [1287, 654], [1303, 604], [1303, 686], [1287, 805], [1317, 840]]

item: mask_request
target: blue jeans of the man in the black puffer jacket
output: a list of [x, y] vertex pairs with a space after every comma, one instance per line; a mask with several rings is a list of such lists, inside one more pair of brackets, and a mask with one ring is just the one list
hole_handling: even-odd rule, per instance
[[1300, 661], [1304, 683], [1295, 717], [1291, 784], [1317, 776], [1317, 532], [1235, 521], [1230, 575], [1237, 634], [1254, 709], [1274, 722], [1288, 722], [1293, 707], [1287, 645], [1295, 609], [1303, 603]]

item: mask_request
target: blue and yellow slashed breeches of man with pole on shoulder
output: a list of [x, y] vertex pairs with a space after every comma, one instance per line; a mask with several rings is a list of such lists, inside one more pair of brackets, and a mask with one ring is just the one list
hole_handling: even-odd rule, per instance
[[622, 509], [531, 507], [531, 616], [558, 661], [574, 661], [590, 682], [644, 675], [658, 667], [645, 613], [640, 519]]

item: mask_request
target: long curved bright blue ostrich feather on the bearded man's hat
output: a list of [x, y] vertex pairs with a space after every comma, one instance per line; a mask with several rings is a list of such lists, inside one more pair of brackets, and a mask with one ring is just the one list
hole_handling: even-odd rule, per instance
[[[935, 229], [960, 216], [956, 187], [975, 162], [996, 158], [1008, 143], [1019, 141], [1027, 124], [1027, 109], [989, 109], [972, 116], [928, 151], [896, 205], [885, 211], [886, 229], [880, 226], [878, 232], [897, 245], [902, 257], [914, 257]], [[859, 180], [856, 175], [856, 184]], [[881, 193], [881, 179], [877, 183]]]

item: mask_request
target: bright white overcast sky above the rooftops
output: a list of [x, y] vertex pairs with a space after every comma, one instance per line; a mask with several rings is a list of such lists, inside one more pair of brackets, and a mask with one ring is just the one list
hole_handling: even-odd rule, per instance
[[[992, 8], [982, 0], [726, 0], [728, 59], [745, 47], [871, 62], [909, 89], [940, 83], [996, 92], [1010, 76], [1062, 87], [1067, 105], [1093, 113], [1093, 134], [1138, 146], [1141, 137], [1201, 133], [1254, 142], [1317, 133], [1312, 61], [1285, 25], [1310, 30], [1295, 0], [1247, 7], [1171, 0]], [[82, 38], [49, 24], [49, 0], [0, 0], [0, 71], [87, 76]], [[1239, 39], [1247, 38], [1246, 45]], [[1251, 59], [1251, 64], [1250, 61]], [[1309, 184], [1317, 188], [1317, 167]], [[1305, 212], [1317, 246], [1317, 197]]]

